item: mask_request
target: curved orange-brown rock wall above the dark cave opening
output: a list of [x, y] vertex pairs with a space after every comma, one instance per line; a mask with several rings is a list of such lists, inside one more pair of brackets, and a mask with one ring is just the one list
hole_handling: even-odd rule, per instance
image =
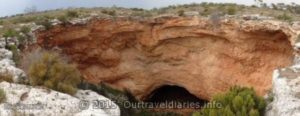
[[164, 17], [97, 19], [36, 36], [41, 47], [59, 47], [71, 57], [91, 83], [109, 83], [139, 99], [177, 85], [209, 100], [233, 85], [264, 95], [273, 70], [292, 63], [295, 33], [275, 22]]

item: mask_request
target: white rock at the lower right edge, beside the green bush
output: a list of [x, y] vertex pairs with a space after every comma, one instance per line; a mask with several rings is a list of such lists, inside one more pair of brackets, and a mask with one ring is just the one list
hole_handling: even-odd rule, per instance
[[300, 77], [297, 70], [275, 70], [273, 74], [274, 100], [268, 105], [266, 116], [300, 116]]

